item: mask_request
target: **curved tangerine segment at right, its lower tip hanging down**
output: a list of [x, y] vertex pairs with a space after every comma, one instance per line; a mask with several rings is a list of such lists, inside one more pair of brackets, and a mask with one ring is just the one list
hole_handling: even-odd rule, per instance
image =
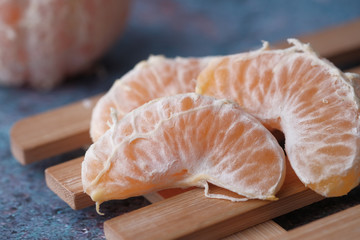
[[285, 50], [260, 50], [213, 60], [196, 92], [239, 103], [268, 129], [285, 135], [300, 180], [324, 196], [359, 184], [359, 98], [355, 74], [344, 74], [295, 39]]

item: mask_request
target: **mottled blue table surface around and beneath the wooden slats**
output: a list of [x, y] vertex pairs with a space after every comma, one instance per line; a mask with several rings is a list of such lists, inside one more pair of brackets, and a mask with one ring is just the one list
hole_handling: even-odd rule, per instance
[[[142, 197], [104, 203], [105, 216], [94, 207], [72, 210], [46, 187], [44, 170], [81, 152], [21, 166], [9, 143], [17, 120], [106, 91], [150, 54], [236, 53], [260, 46], [261, 40], [277, 42], [358, 17], [358, 0], [134, 1], [124, 34], [87, 72], [50, 92], [0, 87], [0, 238], [102, 239], [105, 220], [149, 204]], [[359, 202], [357, 188], [276, 221], [289, 229]]]

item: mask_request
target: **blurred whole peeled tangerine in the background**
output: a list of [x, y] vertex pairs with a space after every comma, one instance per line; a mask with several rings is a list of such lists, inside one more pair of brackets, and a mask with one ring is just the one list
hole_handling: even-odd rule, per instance
[[0, 0], [0, 84], [50, 89], [116, 40], [129, 0]]

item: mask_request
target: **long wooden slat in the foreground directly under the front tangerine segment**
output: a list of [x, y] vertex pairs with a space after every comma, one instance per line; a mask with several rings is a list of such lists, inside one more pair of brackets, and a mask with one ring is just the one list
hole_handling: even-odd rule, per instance
[[[214, 192], [224, 191], [215, 188]], [[108, 220], [107, 239], [219, 239], [323, 199], [288, 168], [278, 201], [234, 203], [193, 189]]]

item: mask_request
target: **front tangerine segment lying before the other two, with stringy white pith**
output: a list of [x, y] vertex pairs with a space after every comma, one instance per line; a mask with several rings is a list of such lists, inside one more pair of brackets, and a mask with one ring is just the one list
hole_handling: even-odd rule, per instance
[[[190, 186], [208, 197], [274, 200], [284, 181], [276, 139], [227, 100], [179, 94], [114, 121], [82, 163], [84, 191], [97, 203]], [[241, 196], [212, 195], [208, 183]]]

